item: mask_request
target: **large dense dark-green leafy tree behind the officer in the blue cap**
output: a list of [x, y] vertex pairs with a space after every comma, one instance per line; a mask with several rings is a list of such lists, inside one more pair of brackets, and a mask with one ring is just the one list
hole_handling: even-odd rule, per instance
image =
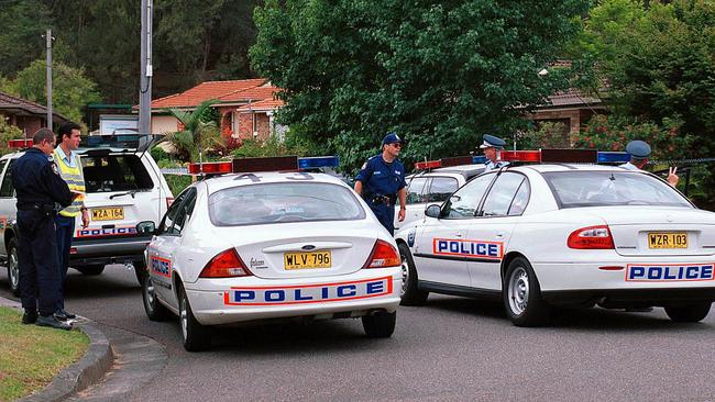
[[[299, 125], [353, 170], [387, 131], [410, 161], [504, 134], [568, 71], [539, 77], [578, 33], [585, 0], [459, 2], [268, 0], [256, 9], [254, 68], [285, 89]], [[515, 105], [522, 105], [517, 109]]]

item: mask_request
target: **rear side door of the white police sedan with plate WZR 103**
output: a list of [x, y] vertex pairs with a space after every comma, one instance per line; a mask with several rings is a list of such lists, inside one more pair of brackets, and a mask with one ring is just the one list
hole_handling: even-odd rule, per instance
[[473, 288], [502, 290], [501, 263], [529, 193], [526, 176], [514, 171], [497, 175], [469, 230], [476, 250], [466, 263]]

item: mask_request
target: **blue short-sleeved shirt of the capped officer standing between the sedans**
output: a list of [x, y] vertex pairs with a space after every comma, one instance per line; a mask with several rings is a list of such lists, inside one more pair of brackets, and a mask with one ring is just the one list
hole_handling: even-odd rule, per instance
[[373, 156], [363, 164], [360, 174], [355, 178], [362, 181], [370, 194], [393, 197], [397, 191], [405, 188], [405, 166], [398, 159], [388, 164], [383, 159], [382, 154]]

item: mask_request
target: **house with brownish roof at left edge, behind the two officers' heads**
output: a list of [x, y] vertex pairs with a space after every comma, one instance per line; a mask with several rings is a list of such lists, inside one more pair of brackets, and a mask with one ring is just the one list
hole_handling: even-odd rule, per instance
[[[25, 138], [32, 137], [37, 130], [47, 126], [47, 108], [7, 92], [0, 92], [0, 115], [7, 118], [10, 125], [20, 127]], [[52, 115], [54, 126], [67, 122], [67, 118], [59, 113], [53, 112]]]

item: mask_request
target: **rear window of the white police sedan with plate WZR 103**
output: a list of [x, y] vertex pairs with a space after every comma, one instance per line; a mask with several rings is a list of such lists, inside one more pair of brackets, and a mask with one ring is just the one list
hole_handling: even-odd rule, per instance
[[692, 204], [668, 183], [637, 171], [543, 172], [560, 208]]

